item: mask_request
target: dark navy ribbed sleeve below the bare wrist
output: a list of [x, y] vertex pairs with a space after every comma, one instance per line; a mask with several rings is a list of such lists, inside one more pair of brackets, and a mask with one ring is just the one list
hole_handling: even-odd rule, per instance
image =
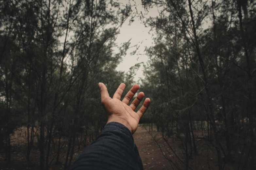
[[106, 124], [101, 134], [71, 166], [71, 170], [143, 170], [129, 129], [121, 123]]

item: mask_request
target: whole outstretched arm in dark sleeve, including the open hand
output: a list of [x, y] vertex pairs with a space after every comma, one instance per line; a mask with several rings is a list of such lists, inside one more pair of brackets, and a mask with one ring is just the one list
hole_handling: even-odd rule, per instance
[[140, 92], [128, 106], [139, 89], [135, 84], [121, 101], [125, 84], [121, 83], [113, 98], [107, 87], [99, 83], [101, 103], [107, 113], [108, 122], [101, 134], [88, 146], [72, 165], [72, 170], [142, 170], [143, 165], [132, 134], [136, 131], [140, 118], [147, 110], [150, 99], [146, 98], [138, 112], [134, 112], [144, 97]]

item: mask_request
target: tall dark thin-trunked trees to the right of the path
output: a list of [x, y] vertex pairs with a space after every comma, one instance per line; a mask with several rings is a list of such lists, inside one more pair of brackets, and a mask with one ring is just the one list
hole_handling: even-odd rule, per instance
[[206, 169], [254, 170], [255, 2], [142, 3], [159, 11], [157, 17], [141, 15], [155, 33], [144, 64], [143, 88], [152, 101], [144, 121], [156, 124], [171, 149], [168, 138], [181, 141], [178, 161], [167, 158], [172, 167], [200, 169], [195, 157], [211, 149], [216, 161]]

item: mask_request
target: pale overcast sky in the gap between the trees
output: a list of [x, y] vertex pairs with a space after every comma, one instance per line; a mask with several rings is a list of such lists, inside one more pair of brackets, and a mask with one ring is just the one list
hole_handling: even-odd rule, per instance
[[[125, 0], [121, 0], [119, 2], [127, 2]], [[141, 5], [141, 0], [135, 0], [137, 4], [137, 10], [138, 12], [142, 11], [144, 14], [144, 8]], [[132, 8], [134, 9], [134, 8]], [[148, 12], [147, 16], [157, 16], [158, 11], [156, 8], [150, 9]], [[144, 24], [138, 19], [134, 18], [134, 22], [132, 22], [129, 25], [129, 19], [125, 21], [125, 23], [122, 25], [120, 28], [120, 34], [117, 36], [116, 43], [121, 45], [124, 42], [127, 42], [129, 39], [130, 41], [130, 46], [134, 46], [136, 44], [140, 45], [139, 49], [137, 50], [135, 55], [130, 55], [130, 52], [135, 50], [136, 48], [131, 48], [127, 51], [127, 55], [123, 57], [123, 61], [117, 66], [116, 70], [117, 71], [125, 71], [128, 72], [129, 68], [131, 66], [134, 66], [135, 64], [144, 62], [146, 63], [148, 61], [148, 57], [145, 55], [145, 47], [150, 47], [153, 45], [153, 39], [152, 39], [152, 34], [153, 32], [150, 32], [149, 27], [145, 27]], [[143, 78], [143, 66], [141, 65], [140, 69], [137, 71], [134, 81], [135, 83], [139, 82], [140, 78]]]

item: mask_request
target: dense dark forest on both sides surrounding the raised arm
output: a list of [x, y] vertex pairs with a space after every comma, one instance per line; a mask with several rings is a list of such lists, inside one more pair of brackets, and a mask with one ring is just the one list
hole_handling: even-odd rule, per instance
[[[139, 3], [0, 2], [0, 162], [11, 167], [19, 152], [26, 167], [69, 169], [106, 124], [98, 82], [127, 92], [143, 67], [151, 105], [140, 123], [161, 133], [172, 169], [256, 169], [256, 2]], [[149, 61], [116, 71], [131, 46], [117, 46], [119, 29], [135, 20], [154, 35]]]

